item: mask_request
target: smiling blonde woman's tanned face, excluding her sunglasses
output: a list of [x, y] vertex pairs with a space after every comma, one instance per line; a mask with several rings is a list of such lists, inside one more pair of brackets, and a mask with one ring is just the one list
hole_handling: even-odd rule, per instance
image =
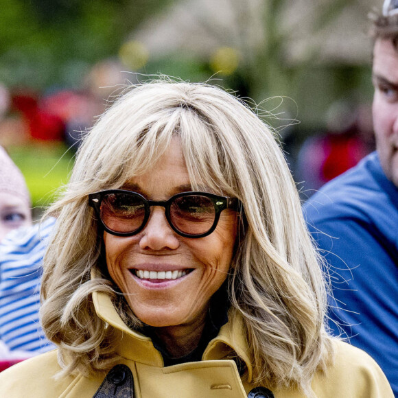
[[[150, 172], [132, 178], [124, 189], [150, 200], [167, 200], [189, 191], [179, 139], [172, 140]], [[236, 228], [237, 213], [224, 210], [211, 235], [181, 237], [167, 223], [165, 209], [151, 207], [148, 224], [137, 235], [104, 233], [108, 271], [143, 323], [154, 327], [196, 325], [204, 322], [211, 296], [227, 277]], [[178, 276], [150, 279], [147, 272], [174, 272]], [[159, 277], [164, 278], [163, 274]]]

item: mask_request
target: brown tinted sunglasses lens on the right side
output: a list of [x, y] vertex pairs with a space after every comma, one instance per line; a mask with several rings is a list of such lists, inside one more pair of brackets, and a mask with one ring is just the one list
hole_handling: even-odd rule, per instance
[[189, 235], [201, 235], [213, 226], [215, 208], [207, 196], [180, 196], [170, 207], [170, 218], [179, 231]]

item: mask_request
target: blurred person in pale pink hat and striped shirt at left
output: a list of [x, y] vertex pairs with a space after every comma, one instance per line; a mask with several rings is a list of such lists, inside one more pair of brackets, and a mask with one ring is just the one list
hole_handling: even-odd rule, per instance
[[38, 309], [42, 259], [54, 221], [40, 231], [32, 226], [25, 179], [1, 147], [0, 217], [0, 360], [23, 359], [52, 347], [39, 327]]

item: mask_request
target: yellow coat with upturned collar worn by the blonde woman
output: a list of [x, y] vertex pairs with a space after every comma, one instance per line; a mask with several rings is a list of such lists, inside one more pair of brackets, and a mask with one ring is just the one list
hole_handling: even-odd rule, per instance
[[[128, 329], [106, 294], [93, 294], [97, 314], [119, 331], [117, 353], [134, 377], [134, 398], [246, 398], [253, 364], [247, 355], [242, 321], [230, 320], [204, 351], [201, 362], [163, 366], [163, 358], [150, 338]], [[366, 353], [336, 341], [336, 364], [327, 375], [317, 373], [312, 387], [318, 398], [394, 398], [384, 373]], [[248, 381], [239, 377], [232, 359], [238, 355], [248, 369]], [[0, 373], [0, 397], [91, 398], [104, 375], [70, 376], [60, 381], [56, 351], [12, 366]], [[299, 390], [272, 390], [275, 398], [304, 398]]]

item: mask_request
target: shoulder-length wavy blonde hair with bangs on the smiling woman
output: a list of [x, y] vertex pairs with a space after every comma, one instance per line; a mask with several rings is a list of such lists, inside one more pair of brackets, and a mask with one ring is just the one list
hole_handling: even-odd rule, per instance
[[135, 86], [102, 115], [82, 143], [65, 194], [49, 211], [58, 222], [45, 256], [42, 320], [60, 348], [64, 373], [93, 373], [114, 359], [111, 331], [95, 315], [92, 292], [107, 292], [124, 320], [139, 323], [111, 281], [90, 280], [91, 268], [103, 270], [104, 261], [87, 195], [144, 173], [176, 135], [193, 187], [235, 196], [244, 207], [229, 293], [232, 314], [244, 319], [255, 382], [311, 391], [314, 372], [326, 368], [332, 353], [327, 294], [283, 153], [270, 128], [237, 97], [169, 80]]

